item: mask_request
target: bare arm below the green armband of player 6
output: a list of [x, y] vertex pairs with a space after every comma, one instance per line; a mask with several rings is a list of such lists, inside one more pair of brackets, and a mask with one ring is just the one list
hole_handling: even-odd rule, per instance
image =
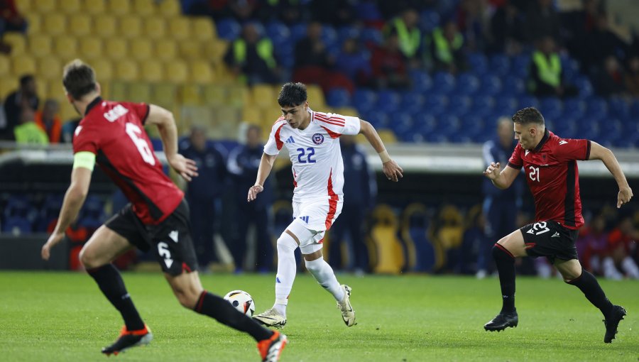
[[53, 233], [49, 236], [47, 242], [43, 245], [40, 255], [44, 260], [49, 260], [50, 251], [53, 246], [57, 245], [65, 237], [65, 231], [77, 217], [78, 212], [84, 204], [89, 192], [89, 184], [91, 184], [92, 168], [75, 167], [71, 172], [71, 185], [67, 189], [60, 216], [58, 216], [58, 224], [55, 224]]

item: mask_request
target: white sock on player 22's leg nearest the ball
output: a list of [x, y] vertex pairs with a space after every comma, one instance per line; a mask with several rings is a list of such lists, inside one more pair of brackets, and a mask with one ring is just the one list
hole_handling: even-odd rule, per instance
[[288, 233], [282, 233], [278, 238], [278, 274], [275, 277], [275, 305], [280, 314], [286, 317], [286, 305], [288, 304], [288, 295], [293, 288], [295, 281], [295, 249], [297, 243], [293, 236]]

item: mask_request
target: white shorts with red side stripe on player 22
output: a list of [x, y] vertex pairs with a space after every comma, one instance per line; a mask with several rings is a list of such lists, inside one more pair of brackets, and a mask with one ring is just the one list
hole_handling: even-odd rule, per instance
[[[300, 251], [310, 254], [322, 248], [325, 232], [342, 213], [342, 200], [317, 199], [312, 202], [293, 202], [293, 223], [311, 231], [310, 238], [300, 238]], [[293, 227], [293, 229], [297, 229]], [[290, 229], [290, 228], [289, 228]], [[295, 230], [291, 230], [295, 234]], [[297, 235], [296, 235], [297, 236]], [[299, 236], [298, 236], [299, 238]]]

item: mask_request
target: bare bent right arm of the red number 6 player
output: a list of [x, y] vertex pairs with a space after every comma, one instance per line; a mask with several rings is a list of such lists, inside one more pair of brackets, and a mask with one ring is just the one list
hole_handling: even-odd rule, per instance
[[177, 171], [187, 181], [197, 176], [197, 166], [194, 160], [185, 158], [178, 153], [178, 127], [175, 126], [173, 113], [155, 104], [149, 104], [146, 124], [155, 124], [160, 131], [160, 138], [164, 144], [166, 160], [173, 170]]

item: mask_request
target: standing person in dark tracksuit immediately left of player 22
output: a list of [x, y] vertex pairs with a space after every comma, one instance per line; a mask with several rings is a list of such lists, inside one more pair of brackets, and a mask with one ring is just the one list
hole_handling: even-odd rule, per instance
[[273, 269], [273, 240], [271, 238], [271, 206], [273, 187], [264, 182], [264, 190], [255, 202], [246, 202], [248, 190], [257, 177], [260, 160], [264, 151], [261, 128], [250, 125], [246, 128], [246, 144], [240, 145], [229, 155], [228, 169], [234, 189], [234, 202], [237, 204], [237, 239], [229, 244], [229, 251], [235, 260], [235, 271], [240, 273], [246, 257], [246, 236], [251, 225], [256, 232], [256, 269], [263, 273]]

